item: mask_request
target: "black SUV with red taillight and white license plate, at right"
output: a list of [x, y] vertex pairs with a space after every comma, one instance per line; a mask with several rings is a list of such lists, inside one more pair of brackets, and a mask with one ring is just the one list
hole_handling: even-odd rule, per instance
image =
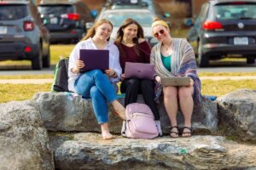
[[188, 41], [196, 42], [200, 66], [210, 59], [227, 57], [256, 58], [256, 1], [210, 0], [204, 3]]

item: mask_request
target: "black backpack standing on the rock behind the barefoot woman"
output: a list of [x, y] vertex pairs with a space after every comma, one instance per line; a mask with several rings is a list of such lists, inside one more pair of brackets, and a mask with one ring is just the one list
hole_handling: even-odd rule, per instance
[[61, 59], [55, 65], [55, 79], [51, 87], [53, 92], [69, 92], [68, 90], [68, 60], [69, 58]]

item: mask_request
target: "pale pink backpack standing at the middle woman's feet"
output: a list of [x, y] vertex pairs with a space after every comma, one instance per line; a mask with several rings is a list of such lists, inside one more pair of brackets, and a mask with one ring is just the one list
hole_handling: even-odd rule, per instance
[[133, 103], [126, 106], [125, 129], [122, 135], [132, 139], [154, 139], [159, 135], [154, 115], [148, 105]]

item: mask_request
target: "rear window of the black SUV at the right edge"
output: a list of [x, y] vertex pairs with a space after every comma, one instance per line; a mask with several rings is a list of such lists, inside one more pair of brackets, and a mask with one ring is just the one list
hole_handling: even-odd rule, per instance
[[213, 6], [214, 18], [218, 20], [256, 19], [256, 4], [225, 4]]

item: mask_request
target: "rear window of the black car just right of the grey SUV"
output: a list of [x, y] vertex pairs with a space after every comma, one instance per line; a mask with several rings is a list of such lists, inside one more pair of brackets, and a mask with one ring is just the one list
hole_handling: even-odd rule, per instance
[[69, 14], [73, 13], [71, 5], [41, 5], [38, 7], [40, 14]]

